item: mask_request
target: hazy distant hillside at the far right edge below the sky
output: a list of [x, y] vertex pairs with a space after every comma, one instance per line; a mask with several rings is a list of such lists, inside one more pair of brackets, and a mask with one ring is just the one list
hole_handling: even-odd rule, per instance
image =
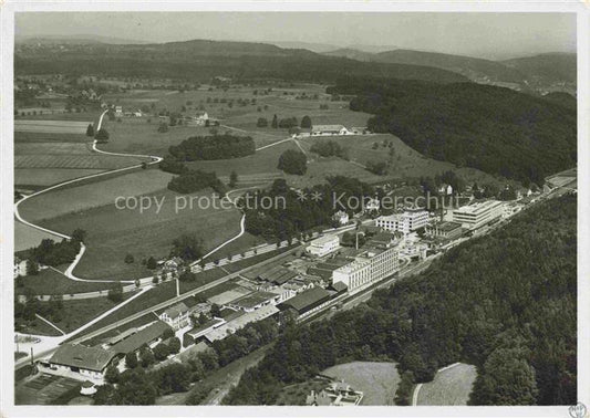
[[575, 53], [547, 53], [507, 60], [503, 63], [529, 77], [548, 82], [576, 83], [577, 58]]

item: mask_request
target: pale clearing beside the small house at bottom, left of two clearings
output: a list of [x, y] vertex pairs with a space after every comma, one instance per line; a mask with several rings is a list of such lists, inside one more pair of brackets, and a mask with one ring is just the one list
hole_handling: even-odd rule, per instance
[[327, 368], [322, 375], [344, 379], [364, 394], [361, 405], [394, 405], [400, 376], [395, 363], [353, 362]]

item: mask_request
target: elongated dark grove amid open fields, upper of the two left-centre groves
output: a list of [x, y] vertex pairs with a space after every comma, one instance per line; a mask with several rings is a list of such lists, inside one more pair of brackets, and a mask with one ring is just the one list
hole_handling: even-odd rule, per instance
[[193, 136], [168, 148], [168, 153], [178, 161], [238, 158], [246, 157], [255, 151], [256, 145], [251, 137], [227, 134]]

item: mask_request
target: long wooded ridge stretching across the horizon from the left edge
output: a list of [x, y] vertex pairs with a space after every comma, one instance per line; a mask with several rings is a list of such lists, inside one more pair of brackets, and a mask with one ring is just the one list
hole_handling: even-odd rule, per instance
[[278, 79], [334, 83], [341, 76], [379, 76], [467, 82], [460, 74], [428, 66], [368, 63], [325, 56], [308, 50], [268, 43], [193, 40], [151, 44], [92, 44], [21, 48], [17, 74], [81, 73], [121, 76], [166, 76], [207, 82], [222, 75], [234, 80]]

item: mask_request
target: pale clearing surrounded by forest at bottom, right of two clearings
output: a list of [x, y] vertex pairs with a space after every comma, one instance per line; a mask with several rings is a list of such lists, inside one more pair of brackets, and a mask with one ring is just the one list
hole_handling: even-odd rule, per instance
[[438, 372], [433, 382], [422, 385], [417, 405], [467, 405], [476, 377], [476, 367], [463, 363]]

